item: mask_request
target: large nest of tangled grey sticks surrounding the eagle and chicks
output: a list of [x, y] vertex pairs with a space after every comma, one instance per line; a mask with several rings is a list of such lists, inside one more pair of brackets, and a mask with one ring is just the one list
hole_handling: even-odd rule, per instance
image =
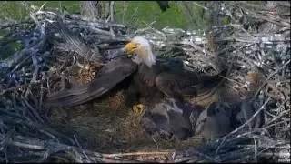
[[[290, 15], [255, 12], [256, 7], [227, 6], [221, 15], [233, 18], [232, 23], [213, 26], [207, 33], [152, 26], [133, 31], [49, 11], [31, 14], [24, 23], [1, 26], [9, 31], [2, 45], [19, 40], [24, 46], [0, 61], [1, 161], [290, 160]], [[146, 36], [156, 54], [181, 58], [195, 71], [212, 74], [209, 67], [218, 71], [222, 63], [232, 66], [213, 101], [256, 98], [257, 111], [248, 121], [264, 111], [264, 125], [252, 129], [244, 124], [210, 142], [199, 137], [177, 141], [148, 136], [138, 123], [143, 113], [125, 107], [124, 90], [118, 87], [74, 108], [43, 106], [47, 94], [90, 82], [137, 35]]]

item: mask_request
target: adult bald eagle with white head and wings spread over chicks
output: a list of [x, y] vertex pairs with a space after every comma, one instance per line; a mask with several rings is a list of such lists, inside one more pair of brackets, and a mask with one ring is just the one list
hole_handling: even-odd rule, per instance
[[110, 61], [96, 74], [88, 84], [63, 90], [49, 96], [47, 106], [75, 106], [101, 97], [113, 87], [129, 80], [126, 104], [134, 106], [139, 97], [146, 97], [146, 102], [156, 103], [163, 97], [183, 100], [183, 96], [197, 97], [221, 80], [220, 75], [206, 76], [186, 70], [181, 60], [158, 59], [153, 54], [150, 42], [144, 36], [135, 36], [125, 45], [125, 52], [130, 58]]

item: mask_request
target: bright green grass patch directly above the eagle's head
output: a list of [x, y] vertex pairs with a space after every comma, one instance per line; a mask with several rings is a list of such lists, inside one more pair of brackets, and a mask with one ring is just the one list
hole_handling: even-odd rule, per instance
[[[156, 21], [153, 26], [157, 29], [165, 26], [188, 28], [186, 17], [176, 6], [176, 2], [171, 1], [169, 5], [171, 8], [162, 12], [156, 1], [116, 1], [115, 20], [136, 27], [145, 27], [146, 24]], [[134, 14], [136, 19], [133, 20]]]

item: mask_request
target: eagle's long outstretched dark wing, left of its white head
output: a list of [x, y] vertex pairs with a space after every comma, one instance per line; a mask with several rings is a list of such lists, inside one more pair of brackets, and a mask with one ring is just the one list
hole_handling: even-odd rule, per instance
[[47, 98], [45, 106], [75, 106], [100, 97], [132, 75], [136, 68], [136, 64], [128, 58], [111, 61], [102, 67], [91, 83], [57, 92]]

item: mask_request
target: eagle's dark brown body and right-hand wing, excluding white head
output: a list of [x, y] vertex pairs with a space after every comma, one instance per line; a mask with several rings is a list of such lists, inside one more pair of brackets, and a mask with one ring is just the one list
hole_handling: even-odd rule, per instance
[[156, 60], [152, 67], [139, 64], [129, 89], [130, 98], [126, 102], [133, 101], [132, 97], [146, 97], [146, 102], [152, 103], [159, 102], [163, 97], [183, 101], [183, 96], [197, 97], [216, 87], [222, 79], [220, 76], [225, 74], [226, 70], [216, 76], [198, 75], [186, 70], [181, 60]]

